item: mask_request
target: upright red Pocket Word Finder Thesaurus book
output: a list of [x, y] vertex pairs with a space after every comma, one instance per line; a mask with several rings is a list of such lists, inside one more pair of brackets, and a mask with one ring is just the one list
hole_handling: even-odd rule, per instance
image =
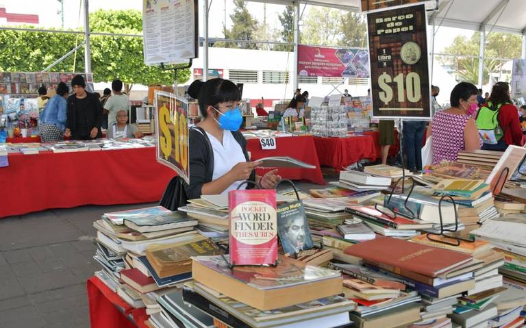
[[275, 264], [277, 259], [276, 190], [228, 193], [230, 264]]

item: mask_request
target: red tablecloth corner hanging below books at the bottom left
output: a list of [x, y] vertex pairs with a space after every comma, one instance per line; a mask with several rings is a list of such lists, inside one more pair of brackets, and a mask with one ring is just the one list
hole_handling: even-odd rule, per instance
[[[88, 290], [91, 328], [148, 327], [145, 325], [145, 320], [148, 320], [145, 307], [134, 309], [97, 277], [88, 279], [86, 288]], [[124, 313], [117, 307], [121, 308]], [[135, 323], [127, 317], [130, 314]]]

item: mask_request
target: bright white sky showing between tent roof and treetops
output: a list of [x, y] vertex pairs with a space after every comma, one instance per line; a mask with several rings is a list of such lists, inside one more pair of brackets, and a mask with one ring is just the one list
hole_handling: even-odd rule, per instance
[[[161, 1], [161, 0], [160, 0]], [[223, 21], [225, 20], [225, 5], [227, 8], [227, 26], [231, 25], [229, 14], [234, 11], [232, 0], [209, 0], [209, 37], [223, 37]], [[142, 0], [89, 0], [90, 12], [99, 9], [125, 10], [135, 9], [142, 10]], [[0, 8], [5, 7], [8, 12], [19, 14], [38, 14], [40, 25], [42, 27], [62, 26], [60, 15], [60, 1], [58, 0], [0, 0]], [[260, 23], [263, 21], [264, 4], [248, 2], [249, 11], [256, 16]], [[305, 8], [303, 16], [308, 14], [310, 6]], [[266, 5], [266, 22], [276, 29], [281, 29], [278, 14], [283, 12], [284, 5]], [[84, 26], [84, 5], [81, 0], [64, 0], [64, 27], [76, 28]], [[303, 10], [303, 5], [301, 7]], [[199, 35], [203, 35], [203, 1], [199, 1]], [[440, 53], [452, 41], [453, 36], [464, 35], [470, 37], [473, 31], [463, 29], [453, 29], [450, 27], [440, 27], [436, 33], [435, 53]]]

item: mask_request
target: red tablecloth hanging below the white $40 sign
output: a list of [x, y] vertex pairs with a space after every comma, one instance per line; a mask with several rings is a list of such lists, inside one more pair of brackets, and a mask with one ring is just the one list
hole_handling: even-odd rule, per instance
[[[250, 151], [251, 160], [253, 161], [269, 156], [289, 156], [316, 166], [313, 169], [279, 168], [278, 174], [281, 177], [292, 180], [308, 180], [315, 184], [325, 184], [312, 136], [276, 138], [276, 149], [270, 150], [263, 150], [260, 140], [257, 138], [249, 139], [247, 142], [247, 150]], [[256, 170], [258, 175], [262, 175], [267, 171], [268, 169], [260, 168]]]

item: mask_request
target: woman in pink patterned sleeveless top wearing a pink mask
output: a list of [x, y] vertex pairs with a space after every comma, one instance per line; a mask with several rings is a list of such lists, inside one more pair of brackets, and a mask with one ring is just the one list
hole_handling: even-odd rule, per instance
[[480, 149], [482, 142], [472, 116], [478, 108], [477, 92], [473, 84], [460, 82], [451, 91], [451, 108], [433, 116], [427, 128], [427, 138], [432, 138], [433, 164], [454, 162], [459, 151]]

